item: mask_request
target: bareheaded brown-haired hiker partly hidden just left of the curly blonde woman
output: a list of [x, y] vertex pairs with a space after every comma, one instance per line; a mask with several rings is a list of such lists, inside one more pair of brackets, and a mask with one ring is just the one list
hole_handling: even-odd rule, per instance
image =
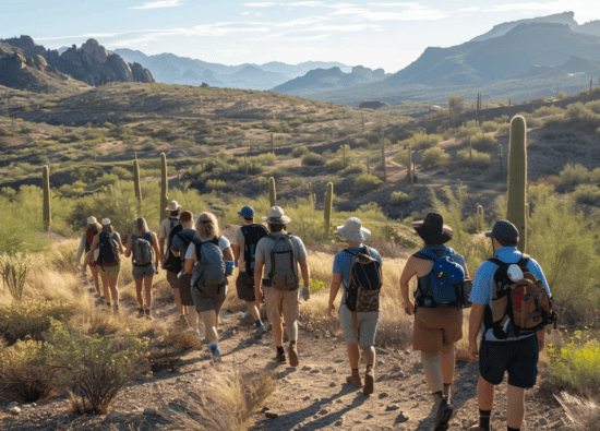
[[194, 230], [194, 216], [191, 212], [184, 211], [179, 215], [179, 219], [182, 230], [177, 232], [171, 241], [171, 253], [173, 256], [179, 258], [179, 264], [173, 265], [168, 271], [177, 273], [177, 289], [179, 291], [181, 307], [183, 308], [183, 312], [192, 330], [195, 331], [199, 338], [202, 339], [197, 325], [199, 315], [194, 307], [194, 301], [192, 300], [192, 275], [183, 271], [185, 252], [196, 235]]

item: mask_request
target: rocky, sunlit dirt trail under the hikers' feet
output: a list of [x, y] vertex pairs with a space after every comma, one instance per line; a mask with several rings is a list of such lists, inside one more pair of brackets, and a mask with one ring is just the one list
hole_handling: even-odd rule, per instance
[[[93, 288], [92, 288], [93, 289]], [[92, 290], [91, 289], [91, 290]], [[321, 294], [327, 295], [327, 294]], [[157, 303], [155, 320], [172, 322], [177, 315], [171, 303]], [[135, 304], [122, 301], [123, 313], [134, 313]], [[219, 330], [223, 363], [214, 364], [206, 344], [201, 351], [183, 358], [178, 373], [155, 373], [129, 385], [121, 392], [106, 416], [73, 417], [64, 398], [21, 406], [20, 416], [0, 414], [2, 430], [139, 430], [170, 429], [160, 415], [145, 415], [149, 408], [160, 414], [169, 405], [178, 405], [190, 390], [202, 388], [214, 373], [271, 370], [277, 378], [276, 394], [266, 403], [268, 411], [278, 415], [266, 419], [256, 414], [253, 431], [280, 430], [432, 430], [431, 396], [425, 384], [418, 352], [377, 348], [375, 393], [365, 397], [346, 384], [349, 371], [346, 345], [336, 336], [307, 332], [301, 323], [299, 337], [300, 366], [277, 366], [272, 333], [260, 340], [253, 338], [251, 322], [241, 322], [238, 313], [224, 311]], [[541, 375], [544, 368], [541, 366]], [[361, 364], [361, 374], [364, 364]], [[449, 430], [467, 430], [476, 423], [476, 363], [458, 362], [452, 404], [456, 408]], [[541, 379], [539, 379], [539, 382]], [[505, 429], [506, 384], [496, 392], [494, 429]], [[524, 430], [563, 429], [564, 412], [538, 387], [527, 393], [527, 416]], [[1, 411], [1, 409], [0, 409]], [[147, 411], [146, 411], [147, 414]]]

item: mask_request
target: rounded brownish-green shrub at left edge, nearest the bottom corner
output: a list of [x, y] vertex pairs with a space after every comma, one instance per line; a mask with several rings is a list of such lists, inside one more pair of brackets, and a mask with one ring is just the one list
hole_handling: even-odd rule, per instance
[[16, 342], [0, 351], [0, 384], [17, 403], [35, 403], [52, 390], [55, 370], [48, 367], [48, 346], [43, 342]]

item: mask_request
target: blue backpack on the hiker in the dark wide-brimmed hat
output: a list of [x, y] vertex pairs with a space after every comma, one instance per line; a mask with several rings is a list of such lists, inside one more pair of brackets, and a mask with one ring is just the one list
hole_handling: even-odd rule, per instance
[[[465, 268], [456, 262], [454, 250], [423, 249], [415, 254], [419, 259], [433, 261], [433, 267], [429, 275], [429, 288], [423, 291], [422, 280], [419, 280], [418, 307], [470, 307], [466, 295]], [[470, 286], [470, 285], [469, 285]], [[469, 289], [470, 290], [470, 289]]]

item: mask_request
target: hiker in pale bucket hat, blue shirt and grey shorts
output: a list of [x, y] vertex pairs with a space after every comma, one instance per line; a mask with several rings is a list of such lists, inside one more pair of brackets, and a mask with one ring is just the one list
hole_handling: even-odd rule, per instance
[[[348, 344], [348, 360], [351, 375], [346, 381], [355, 386], [362, 386], [358, 362], [360, 351], [367, 364], [363, 394], [373, 393], [375, 366], [375, 332], [380, 320], [379, 291], [382, 280], [382, 261], [375, 249], [363, 244], [371, 237], [371, 231], [362, 227], [357, 217], [350, 217], [337, 231], [348, 242], [348, 248], [335, 255], [332, 287], [329, 290], [329, 315], [335, 310], [334, 301], [344, 286], [339, 306], [339, 321], [344, 338]], [[361, 275], [367, 275], [365, 278]], [[362, 282], [362, 283], [361, 283]], [[361, 301], [358, 295], [367, 291], [369, 301]], [[376, 292], [376, 294], [375, 294]], [[359, 349], [360, 346], [360, 349]]]

